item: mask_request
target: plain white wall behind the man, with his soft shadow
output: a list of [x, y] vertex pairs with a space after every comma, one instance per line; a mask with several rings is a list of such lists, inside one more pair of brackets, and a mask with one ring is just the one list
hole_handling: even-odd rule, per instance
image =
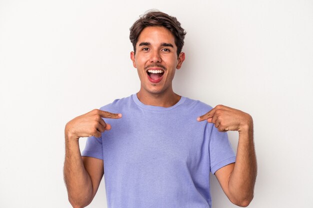
[[[310, 208], [312, 0], [0, 0], [0, 208], [70, 208], [64, 126], [139, 90], [129, 27], [151, 8], [187, 31], [174, 91], [253, 117], [249, 207]], [[236, 207], [208, 177], [212, 207]], [[106, 208], [104, 180], [88, 208]]]

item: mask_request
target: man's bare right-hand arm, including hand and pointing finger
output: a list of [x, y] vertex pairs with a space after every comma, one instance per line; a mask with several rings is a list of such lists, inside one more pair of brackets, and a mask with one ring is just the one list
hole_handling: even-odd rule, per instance
[[215, 176], [228, 199], [246, 207], [253, 199], [256, 179], [256, 158], [253, 143], [253, 122], [242, 111], [218, 105], [200, 116], [198, 121], [213, 123], [220, 132], [238, 131], [236, 161], [217, 170]]

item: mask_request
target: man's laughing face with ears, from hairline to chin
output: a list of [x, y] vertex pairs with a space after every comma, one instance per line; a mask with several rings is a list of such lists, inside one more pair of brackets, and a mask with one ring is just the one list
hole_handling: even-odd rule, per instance
[[165, 27], [145, 27], [136, 43], [136, 53], [130, 53], [141, 82], [140, 91], [161, 94], [172, 90], [175, 70], [181, 67], [184, 53], [177, 57], [175, 38]]

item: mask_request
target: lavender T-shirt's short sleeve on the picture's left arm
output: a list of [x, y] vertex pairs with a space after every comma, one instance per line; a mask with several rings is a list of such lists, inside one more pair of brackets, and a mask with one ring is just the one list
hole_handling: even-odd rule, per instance
[[82, 151], [81, 156], [103, 160], [102, 138], [96, 138], [94, 136], [88, 137], [86, 146]]

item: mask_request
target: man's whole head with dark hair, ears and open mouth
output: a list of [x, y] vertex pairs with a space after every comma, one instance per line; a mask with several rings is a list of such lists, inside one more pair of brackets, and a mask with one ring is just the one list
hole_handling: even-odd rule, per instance
[[175, 17], [159, 11], [144, 14], [132, 25], [130, 59], [141, 83], [138, 96], [173, 94], [175, 71], [185, 59], [184, 35]]

